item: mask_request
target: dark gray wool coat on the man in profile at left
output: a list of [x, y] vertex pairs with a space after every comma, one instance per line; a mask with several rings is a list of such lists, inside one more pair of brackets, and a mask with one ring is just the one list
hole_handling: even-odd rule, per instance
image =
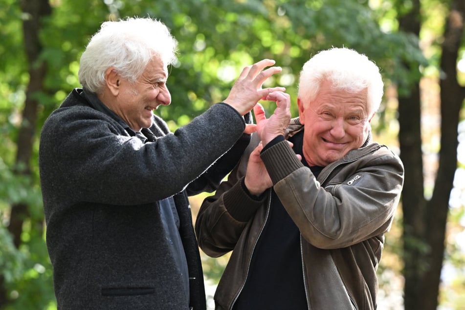
[[[81, 93], [74, 89], [51, 113], [40, 140], [58, 309], [205, 309], [187, 196], [215, 190], [238, 162], [250, 139], [244, 118], [218, 103], [170, 133], [154, 115], [144, 144]], [[189, 305], [159, 212], [167, 197], [179, 217]]]

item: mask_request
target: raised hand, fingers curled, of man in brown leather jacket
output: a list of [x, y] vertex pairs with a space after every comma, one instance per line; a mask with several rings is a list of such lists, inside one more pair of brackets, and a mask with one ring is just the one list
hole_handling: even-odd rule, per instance
[[276, 101], [276, 109], [270, 118], [266, 119], [265, 110], [261, 104], [253, 108], [257, 122], [256, 131], [265, 146], [278, 135], [284, 135], [290, 122], [290, 96], [282, 91], [273, 91], [266, 100]]

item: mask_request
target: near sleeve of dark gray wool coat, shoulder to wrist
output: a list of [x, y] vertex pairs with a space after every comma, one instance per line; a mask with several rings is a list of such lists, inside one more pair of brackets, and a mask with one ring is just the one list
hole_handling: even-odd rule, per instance
[[90, 108], [59, 109], [41, 133], [41, 175], [70, 201], [150, 203], [184, 190], [243, 132], [244, 118], [221, 103], [145, 144]]

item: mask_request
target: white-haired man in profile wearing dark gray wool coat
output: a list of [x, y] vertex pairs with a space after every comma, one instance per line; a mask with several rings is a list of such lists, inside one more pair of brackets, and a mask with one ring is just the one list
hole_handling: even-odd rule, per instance
[[206, 308], [187, 197], [216, 189], [254, 130], [244, 117], [284, 88], [262, 89], [281, 71], [262, 60], [224, 102], [171, 133], [153, 111], [171, 103], [176, 46], [162, 22], [104, 22], [81, 57], [83, 88], [44, 124], [39, 168], [59, 310]]

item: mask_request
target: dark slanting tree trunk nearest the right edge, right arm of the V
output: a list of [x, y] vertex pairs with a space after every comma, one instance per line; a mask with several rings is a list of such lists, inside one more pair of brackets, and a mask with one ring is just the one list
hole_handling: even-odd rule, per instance
[[[431, 200], [428, 202], [426, 222], [429, 227], [424, 239], [430, 251], [424, 258], [427, 272], [422, 281], [424, 304], [420, 309], [434, 310], [438, 306], [439, 284], [445, 248], [449, 197], [457, 169], [458, 126], [465, 90], [457, 81], [457, 60], [464, 35], [465, 1], [454, 0], [446, 21], [441, 55], [441, 150], [439, 167]], [[434, 297], [436, 296], [436, 298]]]

